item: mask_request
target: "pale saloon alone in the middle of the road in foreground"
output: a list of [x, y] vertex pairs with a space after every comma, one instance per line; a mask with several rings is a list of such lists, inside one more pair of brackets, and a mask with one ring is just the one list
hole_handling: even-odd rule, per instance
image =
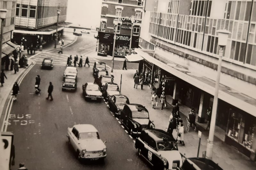
[[78, 159], [98, 160], [107, 156], [106, 141], [100, 139], [98, 130], [91, 124], [77, 124], [68, 128], [68, 141]]

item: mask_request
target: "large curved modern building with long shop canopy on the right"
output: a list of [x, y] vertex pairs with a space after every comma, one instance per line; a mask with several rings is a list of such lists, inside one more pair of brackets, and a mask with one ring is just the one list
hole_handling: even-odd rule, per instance
[[[217, 75], [218, 31], [227, 30], [223, 48], [215, 136], [256, 158], [256, 0], [147, 0], [140, 30], [150, 86], [164, 90], [172, 104], [197, 111], [206, 127]], [[214, 147], [214, 146], [213, 146]]]

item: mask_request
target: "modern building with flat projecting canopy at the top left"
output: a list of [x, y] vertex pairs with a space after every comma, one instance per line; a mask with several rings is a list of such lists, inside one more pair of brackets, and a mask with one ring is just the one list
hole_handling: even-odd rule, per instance
[[16, 44], [30, 47], [54, 41], [58, 21], [58, 37], [63, 34], [67, 18], [68, 0], [18, 0], [15, 12], [13, 40]]

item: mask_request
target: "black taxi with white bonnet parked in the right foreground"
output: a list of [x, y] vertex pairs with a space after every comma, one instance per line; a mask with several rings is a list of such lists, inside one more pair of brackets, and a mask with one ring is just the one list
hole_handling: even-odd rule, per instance
[[146, 159], [154, 169], [173, 169], [172, 164], [181, 167], [182, 156], [177, 143], [161, 129], [142, 130], [140, 137], [135, 140], [138, 154]]

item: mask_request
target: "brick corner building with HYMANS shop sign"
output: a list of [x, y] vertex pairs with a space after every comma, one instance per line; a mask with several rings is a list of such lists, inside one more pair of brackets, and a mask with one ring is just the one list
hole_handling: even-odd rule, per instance
[[[114, 55], [124, 57], [138, 48], [141, 17], [144, 0], [103, 0], [100, 30], [98, 31], [98, 55], [113, 54], [114, 34], [116, 45]], [[132, 17], [134, 16], [134, 17]], [[118, 19], [118, 25], [114, 25]], [[115, 29], [116, 28], [116, 29]], [[132, 37], [131, 37], [132, 36]], [[130, 47], [131, 44], [131, 47]]]

